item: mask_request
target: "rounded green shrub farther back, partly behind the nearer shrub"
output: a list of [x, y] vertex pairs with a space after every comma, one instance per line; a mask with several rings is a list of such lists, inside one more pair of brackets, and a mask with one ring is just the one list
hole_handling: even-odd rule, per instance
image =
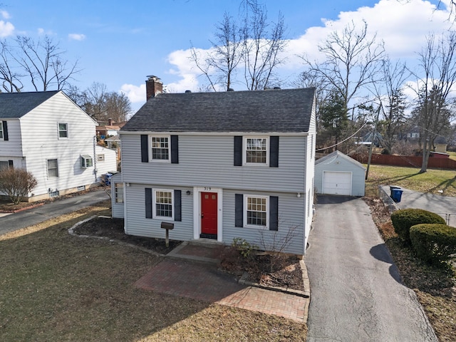
[[410, 242], [410, 227], [422, 223], [446, 224], [445, 219], [423, 209], [400, 209], [391, 214], [395, 232], [405, 242]]

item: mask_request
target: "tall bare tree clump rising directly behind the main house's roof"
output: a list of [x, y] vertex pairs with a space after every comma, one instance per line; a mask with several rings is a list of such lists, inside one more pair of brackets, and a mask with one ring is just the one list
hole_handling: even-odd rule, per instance
[[[195, 47], [190, 50], [190, 61], [202, 72], [209, 88], [214, 91], [227, 90], [233, 83], [244, 83], [249, 90], [269, 88], [277, 84], [275, 69], [283, 63], [284, 19], [279, 14], [276, 24], [269, 23], [266, 8], [256, 0], [242, 1], [239, 24], [229, 14], [214, 34], [212, 48], [201, 55]], [[235, 78], [237, 71], [244, 68], [244, 81]]]

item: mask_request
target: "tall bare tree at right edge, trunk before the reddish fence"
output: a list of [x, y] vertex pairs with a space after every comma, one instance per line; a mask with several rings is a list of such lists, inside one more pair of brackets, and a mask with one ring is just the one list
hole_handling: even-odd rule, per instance
[[449, 105], [455, 103], [452, 88], [456, 85], [456, 33], [449, 32], [439, 39], [427, 36], [426, 46], [418, 56], [419, 66], [411, 73], [417, 79], [415, 118], [421, 128], [423, 163], [420, 173], [423, 173], [427, 170], [435, 138], [455, 118], [455, 110]]

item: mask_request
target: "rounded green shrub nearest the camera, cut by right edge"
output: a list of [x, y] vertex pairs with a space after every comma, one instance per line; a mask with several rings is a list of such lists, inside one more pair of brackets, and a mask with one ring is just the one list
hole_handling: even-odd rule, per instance
[[410, 240], [420, 259], [447, 261], [456, 254], [456, 228], [446, 224], [417, 224], [410, 228]]

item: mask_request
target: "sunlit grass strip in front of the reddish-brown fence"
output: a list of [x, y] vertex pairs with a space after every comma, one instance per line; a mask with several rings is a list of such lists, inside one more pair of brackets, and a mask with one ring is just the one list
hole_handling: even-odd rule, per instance
[[375, 196], [378, 185], [398, 185], [405, 189], [456, 196], [456, 171], [428, 169], [419, 173], [414, 167], [371, 165], [366, 180], [366, 195]]

